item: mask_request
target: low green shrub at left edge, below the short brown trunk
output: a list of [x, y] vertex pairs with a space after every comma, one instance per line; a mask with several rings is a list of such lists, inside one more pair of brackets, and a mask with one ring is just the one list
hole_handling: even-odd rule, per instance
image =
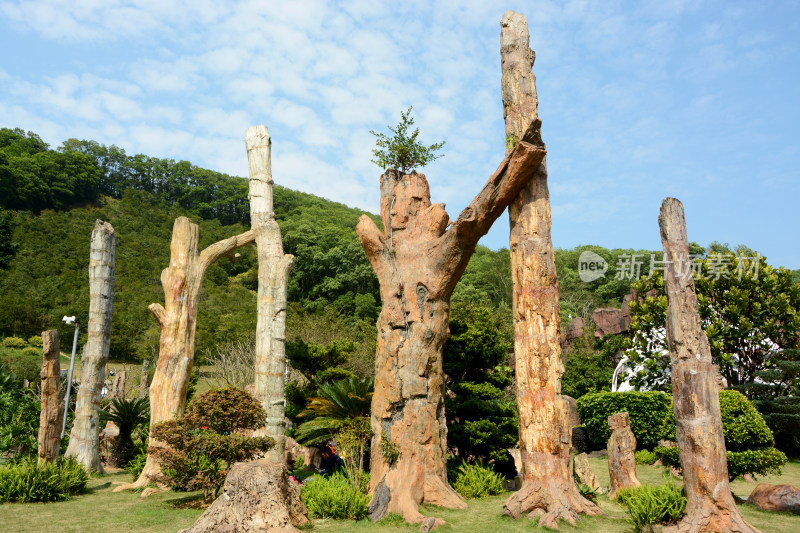
[[89, 474], [74, 459], [37, 464], [29, 457], [0, 468], [0, 502], [54, 502], [86, 488]]

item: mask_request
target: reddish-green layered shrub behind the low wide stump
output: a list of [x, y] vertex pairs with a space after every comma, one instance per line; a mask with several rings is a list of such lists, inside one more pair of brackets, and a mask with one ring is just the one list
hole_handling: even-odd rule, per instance
[[246, 437], [240, 430], [262, 427], [267, 415], [248, 393], [212, 389], [192, 400], [186, 414], [153, 426], [153, 439], [170, 447], [151, 446], [161, 463], [158, 481], [175, 490], [203, 489], [206, 501], [216, 498], [234, 463], [248, 461], [273, 445], [269, 437]]

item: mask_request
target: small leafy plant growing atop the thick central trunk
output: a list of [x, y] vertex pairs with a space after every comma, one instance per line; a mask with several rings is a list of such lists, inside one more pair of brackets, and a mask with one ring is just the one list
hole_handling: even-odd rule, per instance
[[416, 168], [422, 168], [428, 163], [444, 157], [443, 154], [436, 152], [444, 146], [445, 141], [425, 146], [417, 140], [419, 128], [409, 134], [409, 128], [414, 125], [414, 118], [411, 116], [412, 109], [414, 109], [413, 106], [400, 112], [401, 119], [397, 126], [394, 128], [388, 126], [389, 131], [393, 133], [391, 137], [370, 131], [378, 139], [375, 143], [376, 148], [372, 150], [375, 159], [371, 161], [384, 170], [393, 168], [400, 171], [400, 174], [408, 174]]

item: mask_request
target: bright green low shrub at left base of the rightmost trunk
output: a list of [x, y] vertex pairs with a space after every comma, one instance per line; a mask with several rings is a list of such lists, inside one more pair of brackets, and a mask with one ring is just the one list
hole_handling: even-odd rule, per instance
[[642, 485], [621, 489], [617, 492], [617, 501], [625, 505], [637, 532], [645, 531], [651, 524], [677, 522], [686, 513], [686, 497], [672, 480], [658, 487]]

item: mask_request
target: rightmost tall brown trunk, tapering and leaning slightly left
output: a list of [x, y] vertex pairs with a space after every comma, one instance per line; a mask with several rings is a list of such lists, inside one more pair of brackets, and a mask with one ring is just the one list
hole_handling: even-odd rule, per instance
[[728, 484], [719, 388], [711, 348], [700, 325], [694, 280], [681, 268], [689, 261], [683, 205], [675, 198], [666, 198], [661, 204], [658, 224], [669, 302], [667, 343], [672, 360], [672, 403], [688, 500], [686, 516], [670, 529], [692, 533], [757, 531], [744, 521]]

